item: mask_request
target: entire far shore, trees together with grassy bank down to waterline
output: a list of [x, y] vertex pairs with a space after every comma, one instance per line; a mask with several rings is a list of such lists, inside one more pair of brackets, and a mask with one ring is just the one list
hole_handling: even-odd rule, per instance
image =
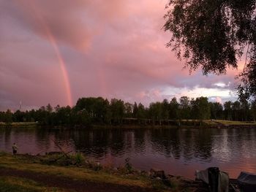
[[[2, 123], [1, 123], [2, 122]], [[27, 123], [27, 124], [26, 124]], [[135, 127], [236, 127], [256, 125], [256, 101], [218, 102], [207, 97], [179, 101], [152, 102], [148, 107], [136, 102], [102, 97], [80, 98], [74, 107], [52, 107], [38, 110], [0, 112], [0, 126], [135, 128]]]

